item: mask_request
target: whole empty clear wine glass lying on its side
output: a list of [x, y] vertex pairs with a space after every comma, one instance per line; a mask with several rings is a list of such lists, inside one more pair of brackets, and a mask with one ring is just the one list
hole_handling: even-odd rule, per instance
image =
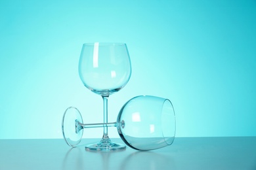
[[[64, 128], [63, 124], [70, 126]], [[75, 107], [69, 107], [65, 111], [62, 132], [70, 146], [79, 144], [83, 129], [91, 127], [117, 127], [119, 136], [131, 148], [154, 150], [173, 143], [176, 131], [175, 111], [169, 99], [150, 95], [140, 95], [127, 101], [119, 111], [117, 121], [112, 123], [83, 124], [81, 114]]]

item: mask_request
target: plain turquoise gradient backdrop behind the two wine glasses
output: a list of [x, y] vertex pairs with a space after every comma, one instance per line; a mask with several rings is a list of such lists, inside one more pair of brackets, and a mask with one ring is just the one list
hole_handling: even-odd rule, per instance
[[102, 122], [101, 97], [78, 75], [84, 42], [129, 49], [109, 122], [132, 97], [157, 95], [173, 102], [177, 137], [256, 135], [256, 1], [1, 0], [0, 21], [0, 139], [62, 138], [70, 105]]

